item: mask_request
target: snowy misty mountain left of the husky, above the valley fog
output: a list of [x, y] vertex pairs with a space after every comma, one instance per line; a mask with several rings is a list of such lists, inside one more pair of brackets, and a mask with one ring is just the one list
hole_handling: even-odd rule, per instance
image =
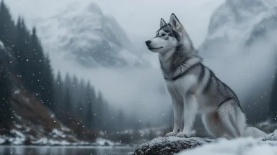
[[53, 17], [35, 20], [46, 51], [91, 66], [136, 66], [142, 60], [116, 19], [96, 3], [71, 3]]

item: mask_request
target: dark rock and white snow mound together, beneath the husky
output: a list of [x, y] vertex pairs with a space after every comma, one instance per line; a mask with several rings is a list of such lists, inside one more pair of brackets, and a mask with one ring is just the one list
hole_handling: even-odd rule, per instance
[[172, 155], [176, 153], [178, 153], [178, 155], [271, 155], [277, 154], [277, 140], [261, 140], [251, 137], [236, 138], [233, 140], [227, 140], [226, 138], [217, 138], [214, 140], [196, 137], [157, 137], [148, 143], [140, 145], [133, 155]]

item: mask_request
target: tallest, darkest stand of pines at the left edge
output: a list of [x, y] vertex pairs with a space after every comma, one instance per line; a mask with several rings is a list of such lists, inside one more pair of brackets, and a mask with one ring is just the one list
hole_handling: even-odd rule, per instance
[[35, 98], [42, 100], [47, 107], [54, 110], [54, 81], [49, 57], [44, 56], [36, 29], [33, 28], [30, 34], [21, 17], [15, 26], [3, 0], [0, 3], [0, 40], [6, 46], [12, 47], [12, 54], [16, 58], [15, 73], [26, 91], [33, 92]]

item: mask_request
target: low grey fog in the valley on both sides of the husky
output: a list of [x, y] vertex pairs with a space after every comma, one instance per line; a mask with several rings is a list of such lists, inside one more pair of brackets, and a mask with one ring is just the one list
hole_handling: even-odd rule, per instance
[[[230, 43], [224, 46], [224, 51], [215, 51], [217, 54], [214, 57], [204, 57], [204, 64], [235, 91], [246, 110], [258, 103], [258, 109], [251, 111], [267, 111], [276, 69], [276, 51], [272, 46], [276, 41], [270, 37], [274, 36], [273, 34], [269, 35], [271, 39], [256, 40], [256, 44], [251, 48]], [[152, 55], [157, 57], [155, 53]], [[163, 113], [172, 110], [170, 96], [158, 65], [150, 68], [84, 69], [59, 59], [57, 55], [51, 56], [56, 70], [63, 73], [68, 71], [91, 80], [93, 86], [102, 91], [111, 104], [117, 104], [126, 113], [155, 122], [163, 118]]]

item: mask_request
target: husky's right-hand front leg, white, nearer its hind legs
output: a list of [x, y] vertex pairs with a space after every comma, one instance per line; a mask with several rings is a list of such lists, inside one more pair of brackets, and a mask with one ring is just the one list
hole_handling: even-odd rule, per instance
[[182, 132], [177, 134], [177, 137], [191, 136], [191, 128], [193, 127], [193, 122], [195, 121], [197, 107], [198, 104], [195, 94], [188, 94], [186, 99], [184, 99], [184, 129]]

